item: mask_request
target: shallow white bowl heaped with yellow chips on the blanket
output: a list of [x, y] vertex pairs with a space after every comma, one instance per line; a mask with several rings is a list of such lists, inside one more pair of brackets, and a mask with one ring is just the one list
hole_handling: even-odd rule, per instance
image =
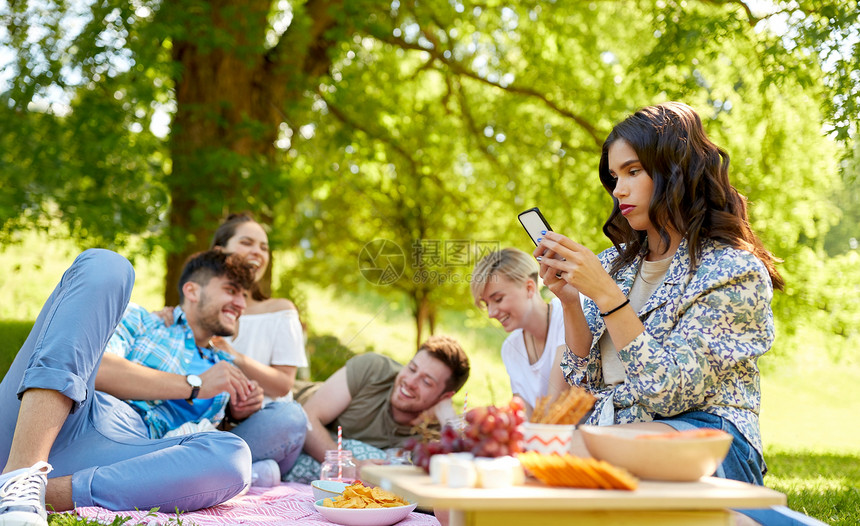
[[342, 495], [314, 503], [326, 520], [344, 526], [390, 526], [405, 519], [416, 506], [390, 491], [368, 488], [360, 482], [347, 486]]

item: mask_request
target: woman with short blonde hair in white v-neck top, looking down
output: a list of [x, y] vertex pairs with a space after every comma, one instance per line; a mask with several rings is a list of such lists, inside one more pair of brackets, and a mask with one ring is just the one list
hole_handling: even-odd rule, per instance
[[[510, 335], [502, 344], [502, 361], [511, 391], [534, 408], [545, 396], [559, 346], [564, 346], [563, 310], [558, 298], [547, 304], [540, 295], [538, 265], [530, 254], [505, 248], [485, 256], [472, 273], [475, 304], [487, 309]], [[563, 347], [562, 347], [563, 348]], [[558, 369], [558, 367], [556, 367]], [[566, 386], [559, 369], [556, 383]], [[550, 389], [550, 393], [555, 390]]]

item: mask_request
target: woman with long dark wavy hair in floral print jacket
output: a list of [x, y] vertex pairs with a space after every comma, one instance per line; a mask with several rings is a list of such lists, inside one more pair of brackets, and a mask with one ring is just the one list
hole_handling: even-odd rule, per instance
[[643, 108], [600, 158], [613, 247], [596, 256], [546, 232], [535, 256], [563, 258], [543, 257], [540, 275], [564, 310], [564, 377], [599, 398], [588, 423], [722, 429], [734, 441], [717, 475], [761, 484], [756, 361], [783, 280], [728, 168], [689, 106]]

